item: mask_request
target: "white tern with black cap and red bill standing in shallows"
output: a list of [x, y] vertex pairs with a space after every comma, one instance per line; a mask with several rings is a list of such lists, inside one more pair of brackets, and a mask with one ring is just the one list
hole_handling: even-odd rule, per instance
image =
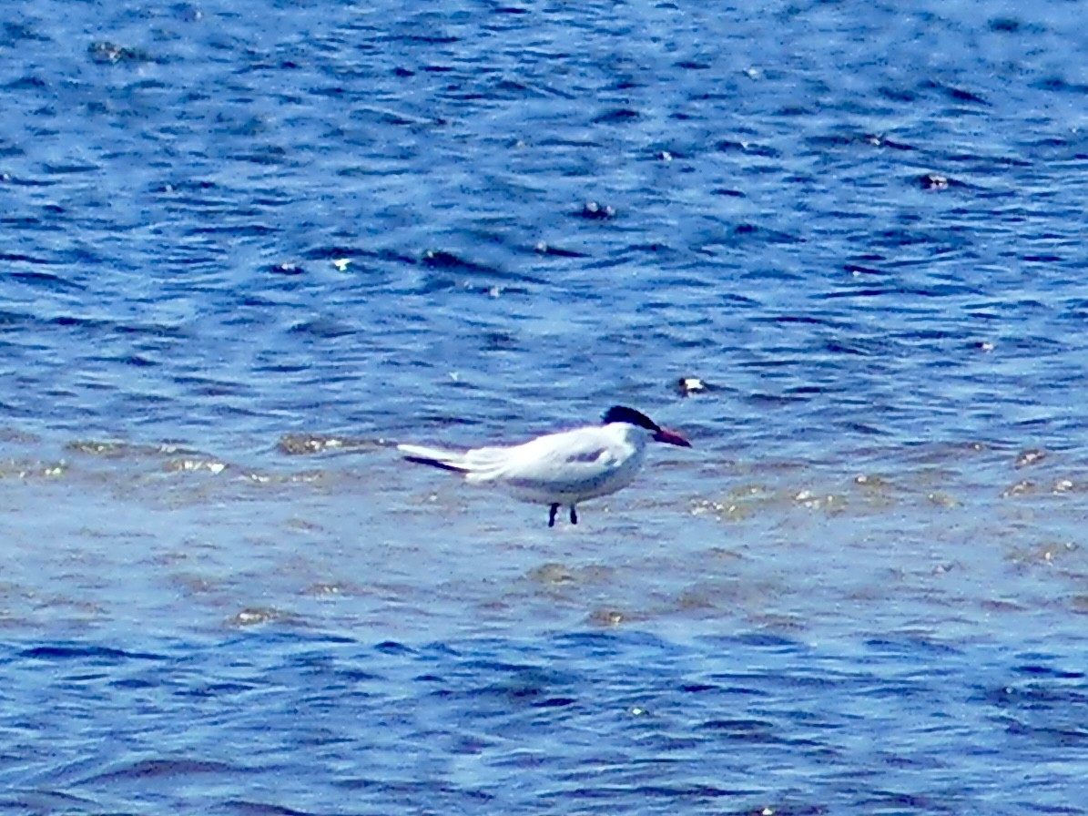
[[441, 450], [397, 445], [405, 459], [463, 473], [472, 484], [505, 487], [523, 502], [548, 505], [547, 526], [570, 506], [570, 523], [578, 523], [576, 506], [626, 487], [634, 479], [650, 441], [691, 447], [673, 431], [662, 428], [634, 408], [621, 405], [605, 411], [599, 425], [537, 436], [522, 445]]

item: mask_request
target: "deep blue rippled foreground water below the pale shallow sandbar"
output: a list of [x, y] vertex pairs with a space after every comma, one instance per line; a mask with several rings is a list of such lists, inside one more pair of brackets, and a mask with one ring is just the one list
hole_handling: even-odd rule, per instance
[[[923, 640], [844, 654], [772, 636], [681, 645], [593, 633], [5, 650], [9, 672], [34, 676], [42, 710], [4, 724], [4, 781], [30, 787], [0, 803], [1079, 813], [1083, 766], [1068, 762], [1088, 743], [1074, 714], [1086, 700], [1084, 673], [1068, 670], [1077, 660]], [[64, 794], [42, 791], [45, 780]]]

